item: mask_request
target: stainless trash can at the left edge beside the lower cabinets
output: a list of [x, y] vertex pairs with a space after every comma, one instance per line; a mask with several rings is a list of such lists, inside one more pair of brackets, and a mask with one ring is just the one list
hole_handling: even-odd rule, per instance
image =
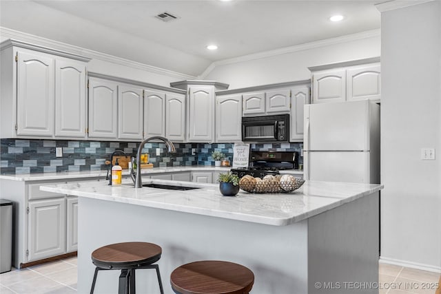
[[11, 270], [12, 202], [0, 199], [0, 273]]

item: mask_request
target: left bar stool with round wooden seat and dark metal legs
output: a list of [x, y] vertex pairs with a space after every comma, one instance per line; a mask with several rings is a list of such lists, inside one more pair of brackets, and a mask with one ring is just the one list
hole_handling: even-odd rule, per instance
[[163, 284], [158, 264], [161, 258], [160, 246], [146, 242], [124, 242], [110, 244], [92, 252], [92, 262], [96, 266], [90, 294], [94, 293], [96, 277], [99, 271], [121, 270], [119, 275], [119, 294], [135, 294], [135, 270], [156, 269], [161, 294]]

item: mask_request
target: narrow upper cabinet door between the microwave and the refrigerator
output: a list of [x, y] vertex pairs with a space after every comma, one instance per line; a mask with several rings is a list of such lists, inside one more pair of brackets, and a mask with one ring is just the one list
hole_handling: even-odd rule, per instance
[[303, 140], [303, 106], [309, 104], [309, 87], [298, 87], [291, 90], [291, 142]]

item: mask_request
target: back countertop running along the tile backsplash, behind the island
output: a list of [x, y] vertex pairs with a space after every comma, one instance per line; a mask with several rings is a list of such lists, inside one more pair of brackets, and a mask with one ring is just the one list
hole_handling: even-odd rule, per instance
[[[206, 165], [188, 166], [188, 167], [154, 167], [152, 169], [141, 169], [141, 174], [161, 174], [174, 173], [178, 171], [221, 171], [227, 172], [232, 167], [213, 167]], [[283, 174], [298, 174], [302, 175], [303, 171], [297, 169], [280, 171]], [[63, 180], [72, 178], [96, 178], [105, 177], [107, 171], [65, 171], [59, 173], [41, 173], [41, 174], [15, 174], [15, 175], [0, 175], [0, 179], [5, 180], [19, 180], [19, 181], [33, 181], [33, 180]], [[130, 175], [128, 169], [123, 169], [123, 176]]]

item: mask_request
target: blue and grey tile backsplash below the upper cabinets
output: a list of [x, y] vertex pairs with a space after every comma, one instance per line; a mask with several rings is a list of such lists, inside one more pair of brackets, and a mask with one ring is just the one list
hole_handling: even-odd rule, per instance
[[[115, 150], [132, 156], [139, 143], [99, 142], [83, 140], [19, 140], [0, 139], [0, 174], [35, 174], [59, 171], [106, 170], [105, 160]], [[63, 157], [55, 156], [55, 148], [63, 148]], [[176, 154], [168, 154], [164, 143], [147, 143], [143, 153], [149, 154], [154, 167], [214, 165], [212, 151], [218, 150], [232, 161], [234, 143], [176, 143]], [[156, 156], [156, 148], [161, 156]], [[257, 151], [298, 151], [302, 143], [252, 144]], [[192, 155], [195, 149], [195, 155]], [[302, 163], [302, 157], [299, 160]]]

